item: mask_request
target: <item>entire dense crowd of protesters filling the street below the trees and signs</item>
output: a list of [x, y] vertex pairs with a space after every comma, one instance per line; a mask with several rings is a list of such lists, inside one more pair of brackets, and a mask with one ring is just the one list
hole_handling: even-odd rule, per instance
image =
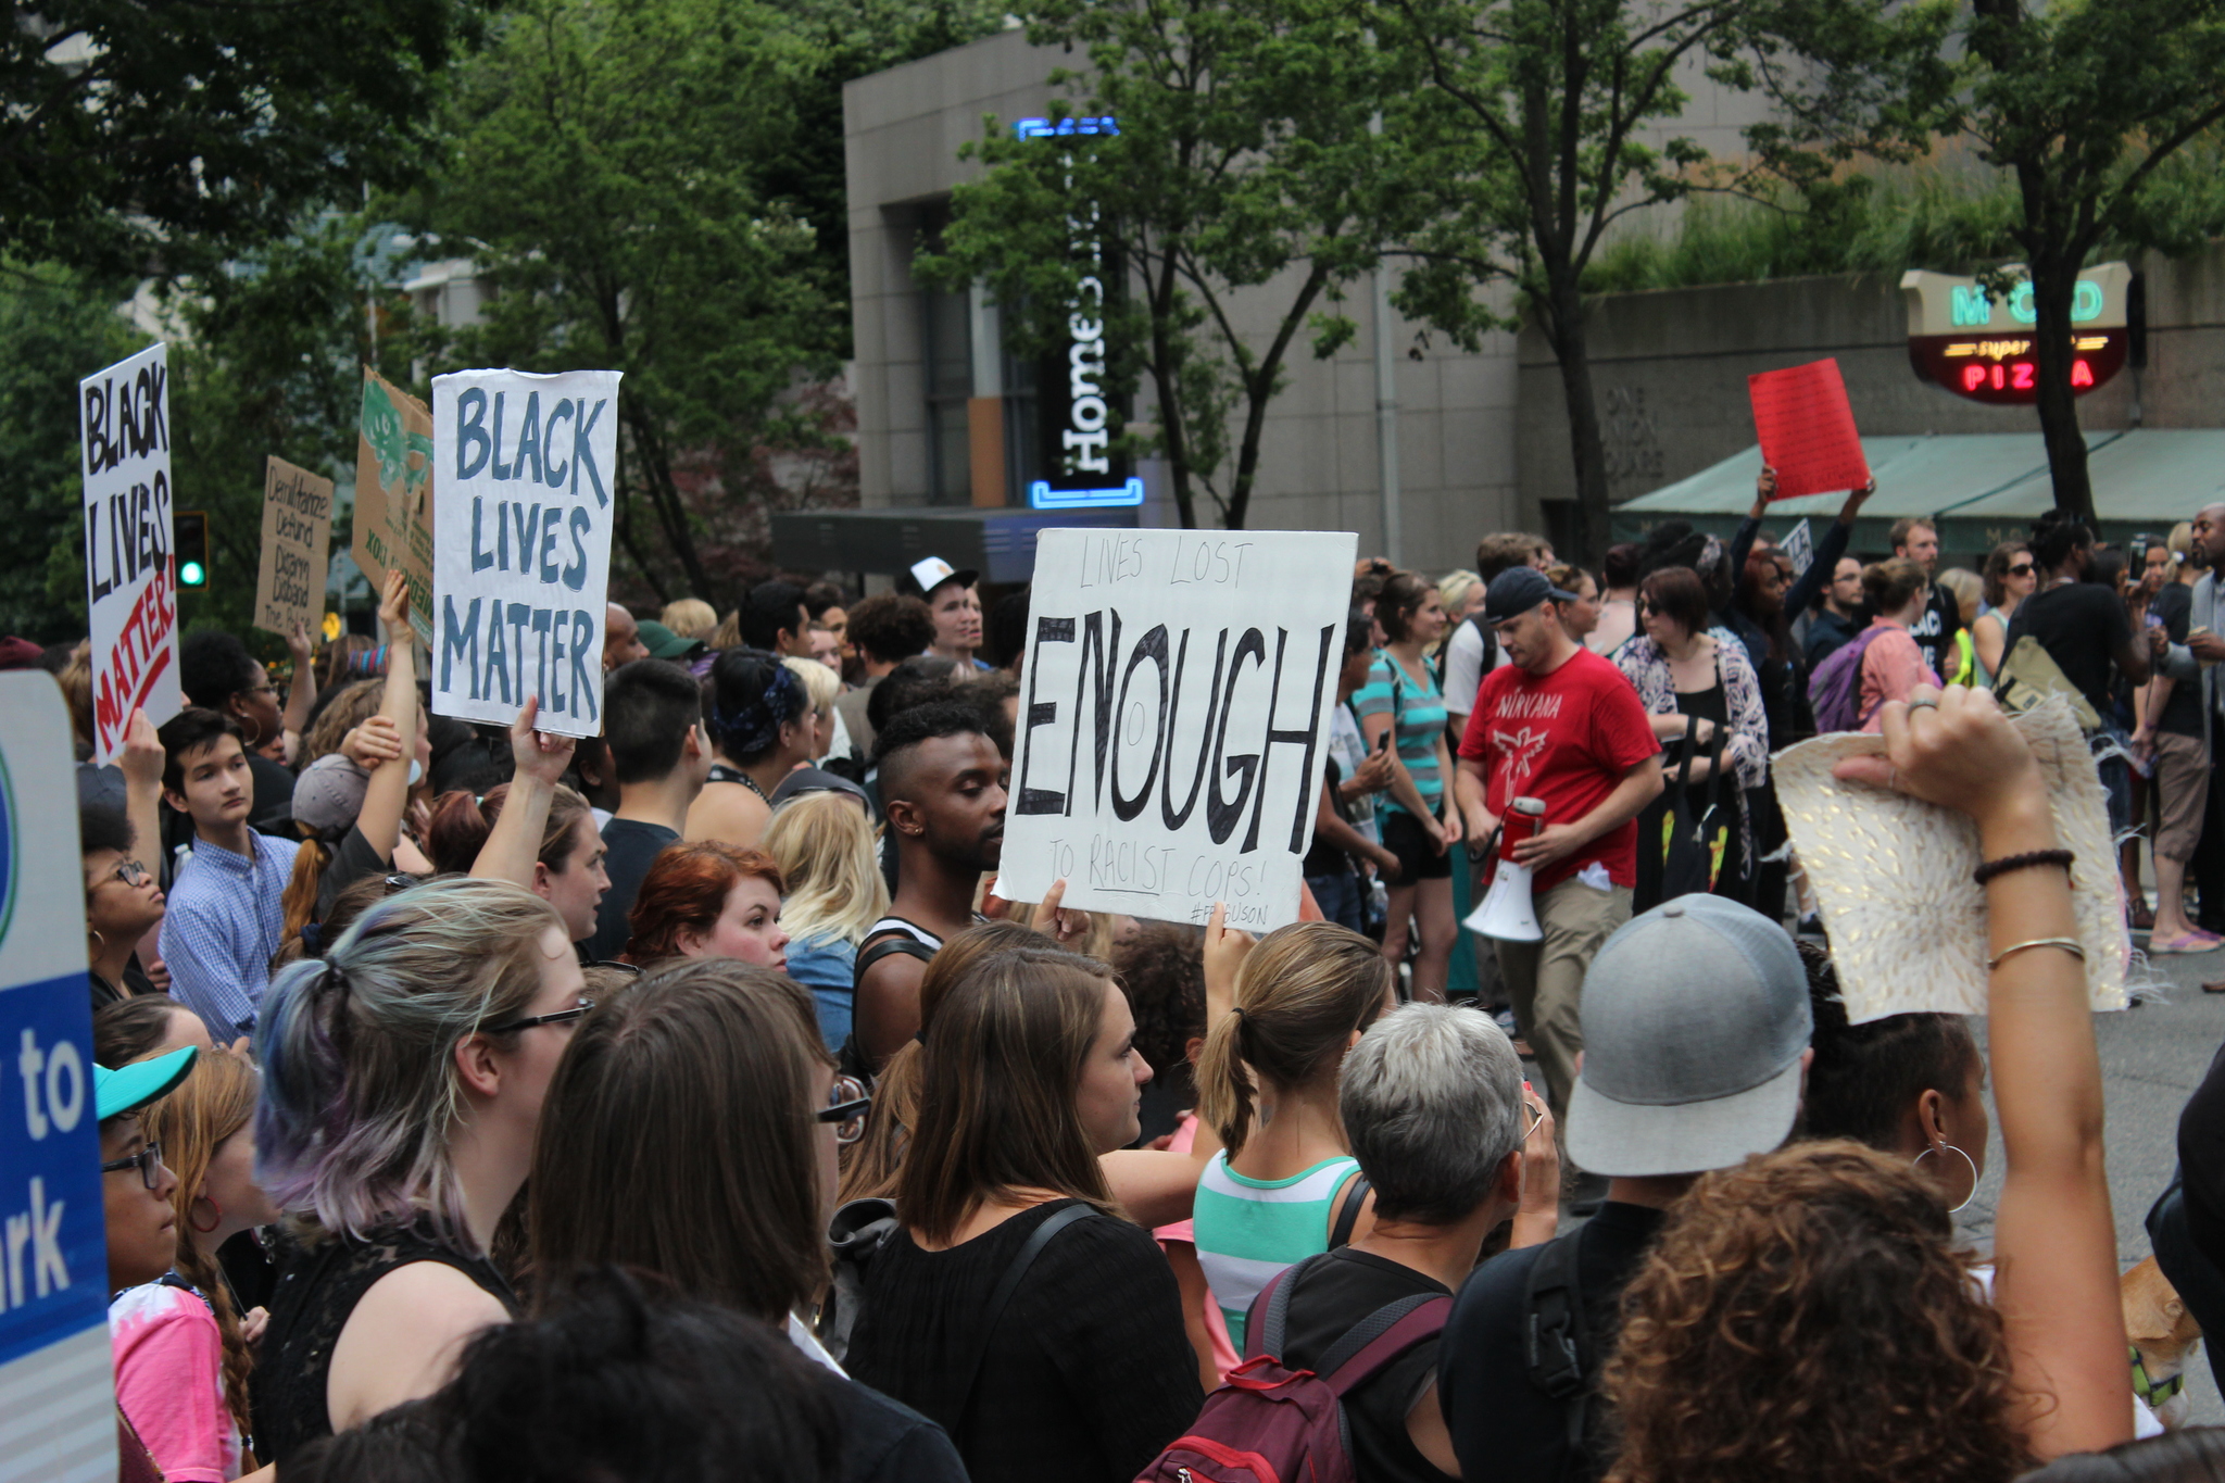
[[[283, 694], [189, 634], [187, 709], [78, 772], [125, 1476], [2221, 1476], [2134, 1441], [2005, 707], [2078, 709], [2154, 903], [2076, 867], [2149, 952], [2225, 947], [2225, 505], [1956, 574], [1920, 520], [1849, 554], [1865, 489], [1796, 567], [1771, 485], [1600, 571], [1359, 563], [1259, 940], [997, 896], [1028, 596], [939, 558], [612, 605], [585, 740], [429, 716], [398, 580]], [[1849, 1021], [1771, 785], [1829, 729], [1976, 829], [1982, 1043]], [[1502, 863], [1540, 940], [1462, 932]], [[2225, 1061], [2152, 1223], [2225, 1323], [2221, 1116]]]

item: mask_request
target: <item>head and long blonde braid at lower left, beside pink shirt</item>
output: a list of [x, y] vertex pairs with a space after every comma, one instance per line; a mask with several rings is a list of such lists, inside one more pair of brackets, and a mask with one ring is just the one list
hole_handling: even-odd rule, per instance
[[[231, 1412], [238, 1436], [251, 1434], [247, 1416], [247, 1372], [254, 1365], [249, 1347], [254, 1325], [263, 1327], [263, 1310], [240, 1314], [238, 1298], [225, 1270], [216, 1263], [216, 1247], [245, 1230], [278, 1221], [263, 1187], [256, 1185], [256, 1094], [263, 1078], [254, 1063], [234, 1052], [200, 1052], [191, 1074], [178, 1089], [149, 1105], [140, 1114], [147, 1141], [160, 1145], [162, 1163], [178, 1176], [169, 1196], [178, 1214], [178, 1254], [174, 1272], [191, 1285], [189, 1301], [207, 1305], [222, 1338], [222, 1401]], [[180, 1294], [171, 1290], [169, 1301]], [[118, 1383], [122, 1383], [118, 1372]], [[171, 1372], [160, 1376], [174, 1385]], [[234, 1439], [238, 1445], [238, 1439]]]

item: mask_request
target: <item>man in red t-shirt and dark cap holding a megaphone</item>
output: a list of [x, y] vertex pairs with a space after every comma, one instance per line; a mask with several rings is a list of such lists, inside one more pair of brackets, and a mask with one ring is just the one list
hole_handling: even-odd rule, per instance
[[1660, 740], [1622, 671], [1569, 638], [1560, 605], [1575, 598], [1533, 567], [1491, 578], [1484, 623], [1509, 663], [1475, 696], [1453, 787], [1468, 845], [1482, 847], [1515, 798], [1544, 800], [1535, 834], [1515, 829], [1502, 858], [1529, 865], [1542, 943], [1497, 943], [1515, 1023], [1537, 1052], [1553, 1118], [1569, 1105], [1584, 1047], [1584, 969], [1631, 918], [1638, 809], [1662, 792]]

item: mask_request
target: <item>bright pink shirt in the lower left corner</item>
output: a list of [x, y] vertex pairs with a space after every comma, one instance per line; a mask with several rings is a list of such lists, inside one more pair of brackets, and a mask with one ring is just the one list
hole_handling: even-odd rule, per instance
[[225, 1405], [225, 1338], [185, 1287], [147, 1283], [109, 1303], [116, 1403], [174, 1483], [240, 1476], [240, 1430]]

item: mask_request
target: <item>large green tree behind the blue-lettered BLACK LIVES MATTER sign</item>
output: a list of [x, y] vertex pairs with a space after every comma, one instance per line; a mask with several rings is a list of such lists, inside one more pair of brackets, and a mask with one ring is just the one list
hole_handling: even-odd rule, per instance
[[452, 147], [409, 207], [421, 251], [467, 256], [494, 298], [436, 365], [625, 371], [616, 545], [663, 600], [730, 596], [690, 502], [834, 369], [841, 305], [812, 231], [765, 191], [810, 49], [734, 0], [530, 0], [461, 69]]

